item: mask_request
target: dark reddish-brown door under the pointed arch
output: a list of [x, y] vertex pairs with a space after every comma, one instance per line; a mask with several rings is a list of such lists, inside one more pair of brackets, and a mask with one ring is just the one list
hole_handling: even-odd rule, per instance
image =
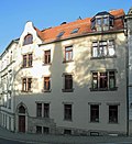
[[19, 132], [25, 132], [25, 115], [19, 115]]

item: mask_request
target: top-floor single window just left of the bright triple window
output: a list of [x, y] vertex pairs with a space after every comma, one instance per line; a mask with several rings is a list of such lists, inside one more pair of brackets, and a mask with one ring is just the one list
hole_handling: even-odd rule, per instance
[[73, 46], [65, 47], [65, 62], [73, 60]]

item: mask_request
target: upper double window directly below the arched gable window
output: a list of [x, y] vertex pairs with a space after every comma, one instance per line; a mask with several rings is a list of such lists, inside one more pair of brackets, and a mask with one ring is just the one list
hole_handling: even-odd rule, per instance
[[23, 55], [23, 67], [32, 67], [32, 63], [33, 63], [32, 54]]

